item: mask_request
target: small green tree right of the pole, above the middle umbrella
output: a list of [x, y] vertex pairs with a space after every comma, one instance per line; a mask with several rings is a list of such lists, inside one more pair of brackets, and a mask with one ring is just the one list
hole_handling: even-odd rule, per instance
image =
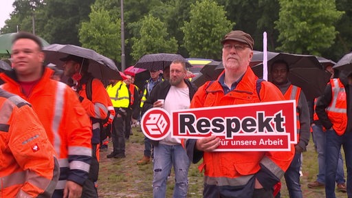
[[144, 54], [177, 52], [176, 39], [168, 35], [166, 25], [160, 19], [148, 14], [140, 24], [139, 36], [131, 39], [133, 42], [131, 55], [135, 61]]

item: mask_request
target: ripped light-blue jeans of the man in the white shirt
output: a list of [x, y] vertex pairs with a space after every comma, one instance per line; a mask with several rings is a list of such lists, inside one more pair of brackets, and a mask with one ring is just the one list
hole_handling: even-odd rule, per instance
[[155, 198], [166, 197], [166, 180], [172, 166], [175, 171], [173, 197], [187, 197], [190, 159], [186, 150], [181, 144], [174, 146], [159, 144], [154, 146], [153, 196]]

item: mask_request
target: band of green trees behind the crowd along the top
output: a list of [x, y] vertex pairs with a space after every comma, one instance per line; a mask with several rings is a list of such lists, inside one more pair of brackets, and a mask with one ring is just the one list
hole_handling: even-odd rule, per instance
[[[15, 0], [1, 34], [32, 32], [49, 43], [96, 50], [120, 62], [121, 0]], [[313, 54], [338, 61], [352, 48], [348, 0], [124, 1], [126, 65], [142, 55], [178, 53], [221, 58], [219, 41], [232, 30], [252, 35], [254, 50]]]

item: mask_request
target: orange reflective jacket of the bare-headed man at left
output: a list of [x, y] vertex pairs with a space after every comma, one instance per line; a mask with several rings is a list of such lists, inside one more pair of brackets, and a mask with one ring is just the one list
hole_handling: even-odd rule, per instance
[[[3, 89], [21, 96], [30, 104], [43, 124], [58, 155], [61, 177], [56, 189], [67, 180], [83, 185], [91, 163], [91, 122], [77, 94], [64, 83], [52, 80], [53, 71], [45, 68], [28, 98], [22, 93], [14, 71], [0, 74]], [[8, 76], [9, 75], [9, 76]]]

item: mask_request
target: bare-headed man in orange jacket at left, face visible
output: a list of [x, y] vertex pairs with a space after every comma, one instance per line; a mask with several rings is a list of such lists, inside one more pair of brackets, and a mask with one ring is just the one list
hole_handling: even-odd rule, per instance
[[38, 37], [19, 32], [12, 42], [14, 69], [0, 74], [2, 86], [32, 104], [55, 148], [61, 174], [53, 197], [80, 197], [91, 164], [91, 124], [77, 94], [51, 79], [42, 48]]

